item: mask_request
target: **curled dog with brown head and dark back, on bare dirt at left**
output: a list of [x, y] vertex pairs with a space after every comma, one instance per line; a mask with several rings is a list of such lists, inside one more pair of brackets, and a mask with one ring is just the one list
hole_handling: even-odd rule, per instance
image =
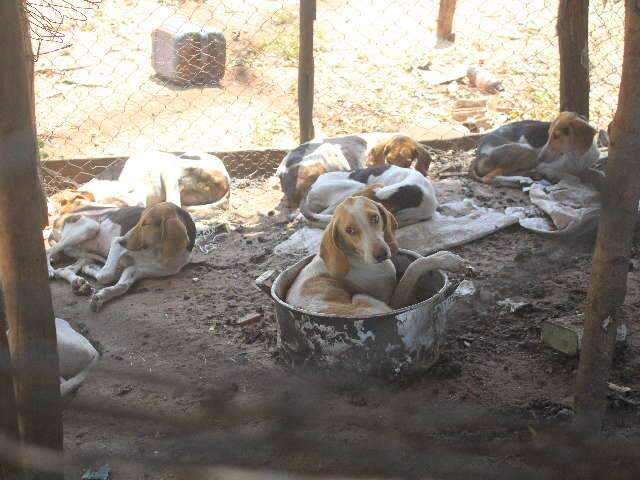
[[[57, 218], [47, 252], [50, 278], [62, 278], [75, 293], [92, 294], [98, 311], [109, 300], [124, 295], [138, 280], [178, 273], [189, 263], [196, 227], [186, 211], [168, 202], [152, 207], [84, 207]], [[58, 254], [76, 259], [53, 268]], [[84, 273], [104, 286], [94, 292]]]

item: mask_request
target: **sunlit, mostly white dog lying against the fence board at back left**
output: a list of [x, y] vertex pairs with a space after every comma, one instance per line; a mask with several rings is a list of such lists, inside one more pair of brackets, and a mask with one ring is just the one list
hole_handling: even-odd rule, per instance
[[146, 152], [131, 156], [117, 180], [94, 178], [77, 190], [65, 190], [50, 198], [57, 214], [65, 205], [89, 204], [116, 207], [150, 207], [171, 202], [197, 207], [228, 202], [231, 178], [222, 161], [207, 153], [174, 155]]

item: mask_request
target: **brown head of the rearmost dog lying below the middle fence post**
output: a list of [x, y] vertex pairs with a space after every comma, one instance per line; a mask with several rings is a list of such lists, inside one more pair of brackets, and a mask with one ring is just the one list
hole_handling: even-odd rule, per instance
[[426, 177], [431, 165], [427, 149], [407, 135], [394, 135], [371, 149], [367, 163], [411, 168], [414, 161], [416, 170]]

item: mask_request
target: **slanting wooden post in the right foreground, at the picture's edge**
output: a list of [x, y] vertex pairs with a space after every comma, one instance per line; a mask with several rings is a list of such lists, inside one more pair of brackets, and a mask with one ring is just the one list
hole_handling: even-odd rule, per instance
[[640, 7], [625, 0], [625, 43], [618, 108], [609, 126], [606, 192], [587, 294], [576, 385], [576, 425], [600, 430], [629, 271], [640, 199]]

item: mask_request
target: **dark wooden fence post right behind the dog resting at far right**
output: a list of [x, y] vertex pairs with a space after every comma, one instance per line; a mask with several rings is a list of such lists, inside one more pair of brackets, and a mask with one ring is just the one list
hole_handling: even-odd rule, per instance
[[559, 0], [560, 111], [589, 118], [589, 0]]

